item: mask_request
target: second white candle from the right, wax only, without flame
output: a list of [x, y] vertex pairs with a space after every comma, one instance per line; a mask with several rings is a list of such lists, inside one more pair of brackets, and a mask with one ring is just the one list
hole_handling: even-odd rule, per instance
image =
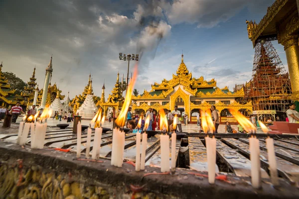
[[260, 142], [257, 138], [249, 138], [249, 151], [251, 161], [251, 184], [254, 188], [261, 187]]

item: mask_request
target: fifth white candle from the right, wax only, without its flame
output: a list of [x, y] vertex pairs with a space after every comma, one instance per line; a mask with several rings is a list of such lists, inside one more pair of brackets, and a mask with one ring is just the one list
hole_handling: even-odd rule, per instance
[[169, 135], [160, 135], [161, 172], [169, 172]]

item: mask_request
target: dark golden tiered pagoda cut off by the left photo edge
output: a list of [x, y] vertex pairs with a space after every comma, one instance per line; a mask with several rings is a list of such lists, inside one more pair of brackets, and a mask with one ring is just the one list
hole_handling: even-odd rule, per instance
[[15, 105], [17, 101], [21, 103], [22, 106], [26, 105], [24, 98], [20, 95], [15, 95], [15, 90], [10, 89], [8, 80], [2, 73], [2, 62], [0, 64], [0, 105], [10, 108]]

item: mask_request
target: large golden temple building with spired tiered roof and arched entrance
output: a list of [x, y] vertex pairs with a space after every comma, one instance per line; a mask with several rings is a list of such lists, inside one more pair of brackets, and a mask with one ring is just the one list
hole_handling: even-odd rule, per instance
[[241, 103], [243, 98], [243, 88], [231, 92], [228, 87], [218, 88], [214, 79], [206, 81], [202, 76], [198, 79], [192, 77], [182, 55], [176, 75], [173, 74], [171, 80], [162, 80], [161, 84], [154, 83], [149, 92], [145, 90], [142, 95], [132, 96], [132, 107], [137, 113], [143, 114], [149, 107], [157, 112], [160, 108], [173, 110], [174, 105], [177, 105], [178, 110], [188, 114], [189, 121], [195, 123], [199, 109], [206, 110], [215, 105], [220, 122], [224, 123], [236, 122], [228, 109], [240, 110], [245, 114], [252, 112], [251, 101]]

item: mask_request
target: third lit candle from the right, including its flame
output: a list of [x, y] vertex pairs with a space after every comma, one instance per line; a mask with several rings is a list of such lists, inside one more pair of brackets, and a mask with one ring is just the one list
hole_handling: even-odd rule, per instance
[[215, 139], [215, 126], [210, 114], [205, 116], [206, 123], [208, 125], [209, 131], [213, 134], [213, 137], [210, 138], [207, 132], [207, 136], [205, 137], [206, 141], [206, 150], [207, 150], [207, 158], [208, 158], [208, 178], [209, 183], [215, 183], [215, 175], [216, 175], [216, 139]]

